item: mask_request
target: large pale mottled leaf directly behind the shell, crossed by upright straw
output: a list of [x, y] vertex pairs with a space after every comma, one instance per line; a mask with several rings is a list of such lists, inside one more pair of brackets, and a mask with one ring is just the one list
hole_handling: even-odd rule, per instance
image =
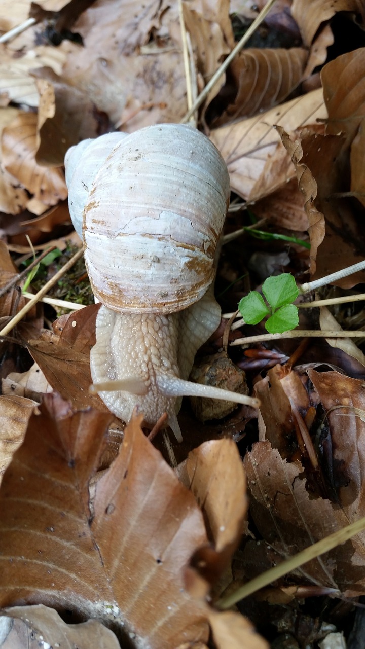
[[[228, 10], [227, 0], [194, 0], [184, 7], [203, 84], [233, 44]], [[131, 132], [184, 116], [186, 79], [177, 3], [128, 1], [118, 14], [114, 3], [99, 0], [73, 29], [82, 34], [84, 47], [62, 43], [68, 54], [63, 78], [107, 112], [117, 128]]]

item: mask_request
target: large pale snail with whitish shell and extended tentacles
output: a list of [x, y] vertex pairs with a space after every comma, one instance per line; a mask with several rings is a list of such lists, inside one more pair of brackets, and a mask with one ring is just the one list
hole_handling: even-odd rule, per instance
[[69, 210], [102, 303], [90, 352], [95, 391], [129, 421], [163, 413], [179, 441], [184, 395], [257, 405], [188, 381], [220, 323], [218, 242], [230, 184], [221, 154], [186, 125], [162, 124], [85, 140], [66, 153]]

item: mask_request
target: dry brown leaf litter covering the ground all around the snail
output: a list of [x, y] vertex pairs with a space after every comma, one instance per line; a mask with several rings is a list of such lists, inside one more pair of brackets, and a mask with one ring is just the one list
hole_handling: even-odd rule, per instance
[[[68, 245], [68, 147], [112, 130], [183, 119], [184, 47], [194, 96], [240, 38], [236, 25], [257, 14], [226, 0], [182, 4], [188, 45], [175, 2], [3, 3], [3, 32], [30, 11], [34, 24], [0, 51], [1, 286], [18, 272], [6, 244], [18, 255], [29, 251], [25, 234], [37, 247]], [[260, 0], [257, 9], [264, 5]], [[201, 105], [199, 125], [231, 178], [235, 211], [227, 232], [246, 228], [221, 252], [223, 311], [260, 291], [267, 274], [284, 270], [301, 284], [308, 273], [313, 280], [364, 259], [364, 18], [360, 0], [277, 0]], [[309, 253], [300, 240], [310, 242]], [[266, 275], [263, 268], [270, 269]], [[336, 290], [360, 292], [363, 279], [363, 271], [342, 278]], [[320, 289], [313, 299], [331, 291]], [[3, 323], [25, 303], [14, 287], [3, 295]], [[299, 328], [362, 329], [357, 304], [299, 308]], [[57, 609], [66, 622], [101, 619], [100, 633], [110, 627], [105, 643], [113, 648], [121, 640], [179, 649], [264, 647], [249, 615], [270, 641], [286, 620], [290, 637], [314, 646], [325, 631], [306, 605], [313, 594], [323, 598], [322, 617], [343, 628], [326, 594], [342, 598], [338, 607], [364, 594], [364, 533], [273, 583], [269, 607], [264, 593], [241, 602], [240, 613], [221, 613], [214, 602], [364, 515], [362, 340], [234, 348], [247, 391], [260, 397], [258, 418], [242, 408], [202, 426], [185, 408], [186, 440], [180, 448], [173, 443], [182, 461], [179, 482], [138, 419], [124, 437], [114, 420], [113, 433], [103, 402], [88, 392], [97, 308], [58, 319], [51, 307], [45, 315], [33, 309], [2, 343], [0, 593], [14, 633], [42, 633], [51, 644], [57, 633], [82, 632], [83, 625], [55, 617]], [[259, 333], [260, 326], [244, 332]], [[226, 332], [223, 340], [236, 336]], [[211, 340], [203, 357], [219, 353], [223, 340]], [[233, 439], [244, 458], [248, 519]], [[163, 450], [158, 435], [154, 443]], [[96, 632], [85, 631], [85, 646]]]

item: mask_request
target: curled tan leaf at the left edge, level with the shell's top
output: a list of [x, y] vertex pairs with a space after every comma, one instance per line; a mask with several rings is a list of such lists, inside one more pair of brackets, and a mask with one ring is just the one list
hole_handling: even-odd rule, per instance
[[36, 138], [36, 114], [19, 112], [3, 129], [3, 165], [36, 199], [54, 205], [67, 198], [64, 173], [60, 169], [47, 169], [36, 164]]

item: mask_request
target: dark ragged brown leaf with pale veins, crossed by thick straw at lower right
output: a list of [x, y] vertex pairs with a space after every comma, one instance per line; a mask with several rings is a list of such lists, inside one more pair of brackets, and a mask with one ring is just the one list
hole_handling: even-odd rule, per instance
[[[245, 455], [244, 467], [250, 513], [262, 538], [267, 539], [270, 548], [277, 553], [277, 561], [279, 557], [293, 556], [347, 524], [342, 510], [334, 511], [329, 500], [310, 499], [305, 480], [301, 478], [301, 463], [282, 459], [269, 442], [255, 443]], [[348, 542], [350, 560], [349, 545]], [[301, 580], [337, 589], [335, 570], [336, 563], [330, 553], [306, 563], [297, 574]]]

